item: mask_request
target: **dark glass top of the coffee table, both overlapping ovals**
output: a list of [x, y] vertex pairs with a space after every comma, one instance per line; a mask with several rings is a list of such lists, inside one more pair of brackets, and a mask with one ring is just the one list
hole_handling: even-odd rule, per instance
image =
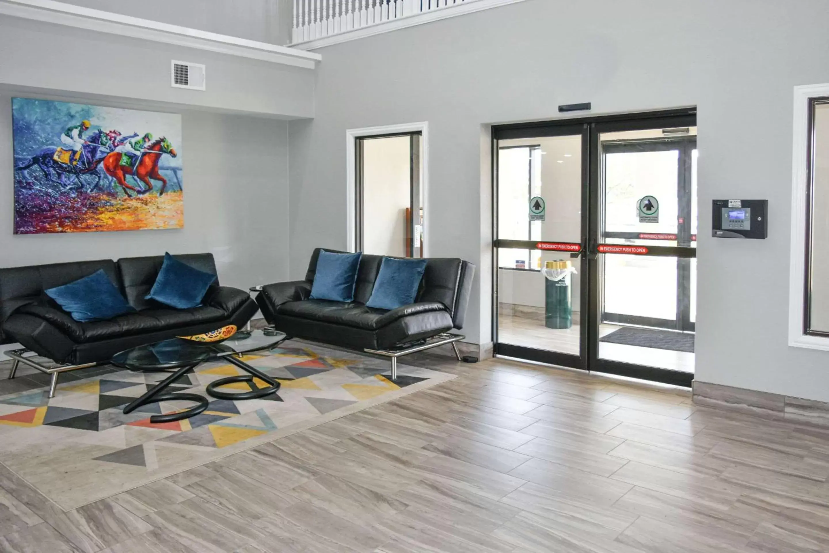
[[284, 338], [283, 332], [267, 336], [261, 330], [240, 331], [218, 343], [170, 338], [116, 353], [110, 362], [133, 371], [165, 371], [237, 353], [267, 350], [277, 346]]

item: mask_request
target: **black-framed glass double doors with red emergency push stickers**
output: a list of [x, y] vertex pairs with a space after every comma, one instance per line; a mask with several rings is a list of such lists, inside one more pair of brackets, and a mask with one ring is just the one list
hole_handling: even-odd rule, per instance
[[493, 133], [496, 353], [689, 386], [696, 115]]

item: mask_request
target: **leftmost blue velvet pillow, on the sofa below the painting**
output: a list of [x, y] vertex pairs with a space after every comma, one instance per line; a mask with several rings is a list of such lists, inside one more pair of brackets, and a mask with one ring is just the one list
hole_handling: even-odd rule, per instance
[[109, 280], [104, 269], [44, 292], [79, 323], [106, 321], [135, 311]]

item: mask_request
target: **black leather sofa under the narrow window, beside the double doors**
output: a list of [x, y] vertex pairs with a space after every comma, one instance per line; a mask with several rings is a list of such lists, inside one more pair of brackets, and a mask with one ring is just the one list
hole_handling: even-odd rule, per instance
[[288, 337], [391, 357], [393, 377], [401, 355], [448, 343], [458, 355], [454, 342], [463, 336], [445, 333], [463, 328], [475, 265], [459, 259], [429, 258], [415, 302], [387, 311], [365, 305], [380, 271], [380, 255], [362, 256], [353, 302], [309, 299], [320, 251], [313, 251], [304, 280], [261, 287], [256, 303], [276, 330]]

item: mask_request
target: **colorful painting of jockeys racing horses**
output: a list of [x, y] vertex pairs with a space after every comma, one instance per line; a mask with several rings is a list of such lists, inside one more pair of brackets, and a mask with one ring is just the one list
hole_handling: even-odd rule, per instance
[[12, 98], [14, 233], [184, 226], [182, 116]]

